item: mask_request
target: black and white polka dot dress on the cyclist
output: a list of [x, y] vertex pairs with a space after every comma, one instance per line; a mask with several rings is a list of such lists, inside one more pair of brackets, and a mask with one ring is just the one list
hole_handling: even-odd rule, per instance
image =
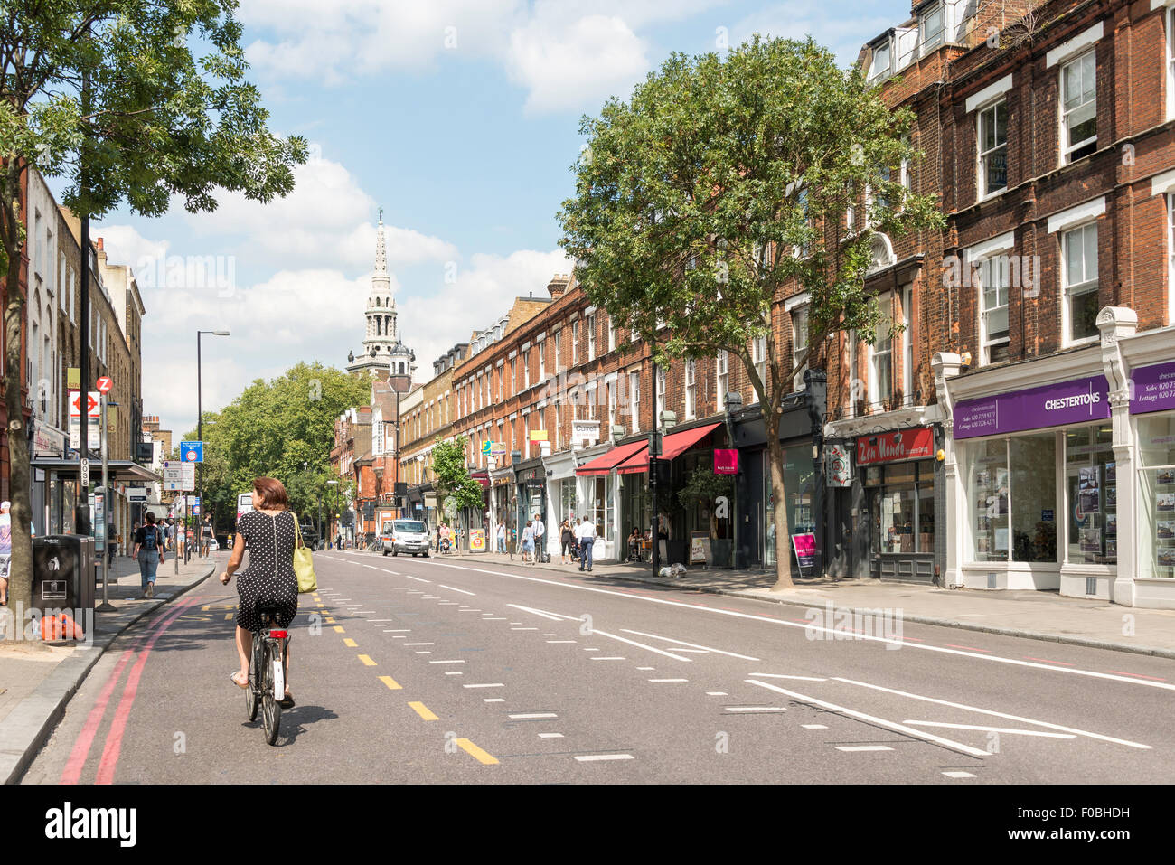
[[249, 551], [249, 566], [236, 581], [236, 623], [247, 631], [261, 630], [257, 608], [277, 604], [277, 626], [289, 628], [297, 615], [297, 575], [294, 572], [294, 545], [297, 543], [294, 515], [283, 511], [269, 516], [257, 510], [242, 514], [236, 530]]

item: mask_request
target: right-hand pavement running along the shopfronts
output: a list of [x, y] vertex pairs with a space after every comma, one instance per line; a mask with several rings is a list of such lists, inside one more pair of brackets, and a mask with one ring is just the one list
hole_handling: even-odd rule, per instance
[[[518, 556], [463, 554], [462, 559], [486, 564], [518, 563]], [[578, 574], [577, 564], [557, 556], [536, 570]], [[774, 571], [691, 568], [682, 577], [657, 577], [647, 563], [597, 562], [596, 577], [652, 583], [686, 591], [733, 595], [791, 606], [825, 606], [853, 612], [900, 611], [902, 621], [961, 628], [968, 631], [1027, 637], [1094, 649], [1175, 658], [1175, 611], [1144, 610], [1106, 601], [1062, 597], [1055, 591], [981, 591], [942, 589], [879, 579], [813, 577], [795, 588], [774, 591]]]

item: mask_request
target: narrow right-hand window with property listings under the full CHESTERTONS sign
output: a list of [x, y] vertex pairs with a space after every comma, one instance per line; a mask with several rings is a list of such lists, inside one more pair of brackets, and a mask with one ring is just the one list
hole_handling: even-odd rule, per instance
[[1065, 434], [1069, 564], [1117, 562], [1117, 471], [1109, 425]]

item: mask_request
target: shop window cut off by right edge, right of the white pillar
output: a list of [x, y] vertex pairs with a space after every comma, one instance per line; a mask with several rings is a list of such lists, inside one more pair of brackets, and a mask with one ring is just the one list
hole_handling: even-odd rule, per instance
[[1175, 578], [1175, 414], [1140, 417], [1137, 424], [1139, 576], [1171, 579]]

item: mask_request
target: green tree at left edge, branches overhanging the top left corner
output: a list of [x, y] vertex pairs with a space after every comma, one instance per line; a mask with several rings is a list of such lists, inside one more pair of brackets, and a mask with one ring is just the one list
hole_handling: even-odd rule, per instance
[[[246, 80], [235, 0], [7, 0], [0, 15], [0, 250], [5, 367], [22, 363], [26, 168], [68, 181], [65, 203], [101, 216], [126, 201], [195, 213], [217, 189], [268, 202], [294, 186], [306, 141], [268, 129]], [[196, 56], [194, 51], [201, 52]], [[86, 254], [85, 252], [82, 253]], [[32, 591], [28, 437], [20, 378], [5, 376], [12, 487], [12, 597]]]

